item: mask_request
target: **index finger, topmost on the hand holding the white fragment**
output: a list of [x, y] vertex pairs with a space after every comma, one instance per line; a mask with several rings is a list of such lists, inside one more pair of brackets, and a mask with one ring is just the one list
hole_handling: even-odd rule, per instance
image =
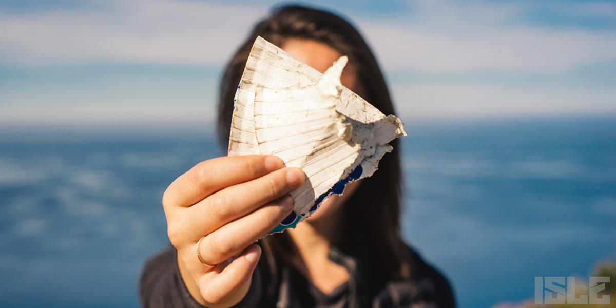
[[163, 206], [192, 206], [212, 193], [283, 168], [272, 155], [224, 156], [201, 161], [177, 177], [163, 195]]

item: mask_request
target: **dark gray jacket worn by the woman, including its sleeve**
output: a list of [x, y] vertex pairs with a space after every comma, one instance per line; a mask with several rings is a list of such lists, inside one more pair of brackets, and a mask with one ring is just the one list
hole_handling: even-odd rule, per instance
[[[349, 270], [350, 278], [329, 294], [322, 293], [290, 265], [281, 265], [278, 277], [270, 277], [262, 257], [248, 294], [236, 307], [455, 307], [452, 289], [443, 275], [410, 251], [415, 265], [412, 278], [387, 282], [376, 292], [363, 286], [365, 267], [361, 260], [330, 251], [330, 259]], [[145, 264], [139, 282], [143, 307], [203, 307], [188, 293], [176, 257], [176, 249], [170, 246]]]

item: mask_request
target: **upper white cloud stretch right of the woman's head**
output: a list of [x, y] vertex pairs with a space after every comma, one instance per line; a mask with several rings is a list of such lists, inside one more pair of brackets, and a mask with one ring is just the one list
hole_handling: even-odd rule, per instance
[[362, 23], [386, 67], [560, 72], [616, 60], [616, 31], [521, 23], [523, 11], [532, 3], [413, 3], [418, 15], [408, 20]]

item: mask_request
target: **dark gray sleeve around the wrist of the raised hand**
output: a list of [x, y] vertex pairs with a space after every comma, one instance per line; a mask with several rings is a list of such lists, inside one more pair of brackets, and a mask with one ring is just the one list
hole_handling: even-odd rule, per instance
[[[262, 290], [261, 270], [257, 266], [248, 293], [235, 307], [259, 307]], [[147, 308], [203, 307], [188, 292], [177, 267], [177, 251], [171, 246], [145, 263], [139, 280], [139, 298], [141, 306]]]

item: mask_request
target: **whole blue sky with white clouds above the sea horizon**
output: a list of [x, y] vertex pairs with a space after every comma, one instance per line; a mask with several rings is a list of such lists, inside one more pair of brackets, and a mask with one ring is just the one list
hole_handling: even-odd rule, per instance
[[[211, 123], [276, 3], [0, 0], [0, 124]], [[407, 121], [616, 115], [616, 2], [309, 5], [359, 27]]]

